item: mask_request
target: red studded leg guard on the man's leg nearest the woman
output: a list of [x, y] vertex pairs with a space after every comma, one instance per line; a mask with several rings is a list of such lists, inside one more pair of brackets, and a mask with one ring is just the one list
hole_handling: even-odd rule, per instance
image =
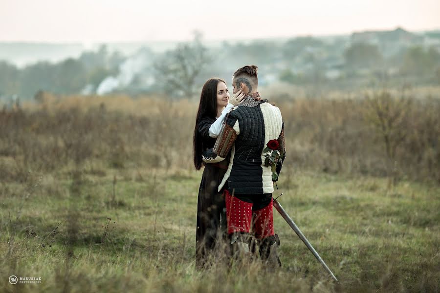
[[252, 204], [244, 202], [235, 196], [224, 191], [226, 199], [226, 219], [228, 222], [228, 233], [247, 232], [249, 233], [252, 220]]

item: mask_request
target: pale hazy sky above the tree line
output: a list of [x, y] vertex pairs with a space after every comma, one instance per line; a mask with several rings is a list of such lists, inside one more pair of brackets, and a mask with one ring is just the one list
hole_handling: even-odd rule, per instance
[[0, 0], [0, 41], [180, 41], [440, 28], [440, 0]]

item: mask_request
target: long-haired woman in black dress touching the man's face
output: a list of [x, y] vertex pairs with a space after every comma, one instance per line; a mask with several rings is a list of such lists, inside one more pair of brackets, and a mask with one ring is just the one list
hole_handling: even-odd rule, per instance
[[[205, 164], [202, 153], [214, 147], [226, 114], [236, 105], [242, 104], [244, 94], [237, 92], [229, 99], [226, 83], [219, 78], [211, 78], [203, 85], [194, 129], [194, 166], [199, 170], [203, 165], [202, 179], [198, 189], [196, 265], [202, 267], [205, 257], [215, 248], [218, 237], [227, 237], [226, 213], [223, 190], [217, 189], [226, 172], [228, 160], [221, 163]], [[224, 238], [226, 239], [226, 238]]]

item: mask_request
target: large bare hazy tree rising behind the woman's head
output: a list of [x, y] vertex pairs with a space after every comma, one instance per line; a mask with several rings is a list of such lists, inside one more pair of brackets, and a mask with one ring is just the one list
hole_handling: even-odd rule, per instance
[[168, 94], [193, 97], [198, 75], [212, 62], [201, 39], [202, 35], [196, 32], [192, 42], [179, 43], [154, 63], [156, 80]]

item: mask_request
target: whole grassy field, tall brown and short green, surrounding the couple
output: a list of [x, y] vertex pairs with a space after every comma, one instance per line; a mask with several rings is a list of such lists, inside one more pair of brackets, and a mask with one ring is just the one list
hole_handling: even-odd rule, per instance
[[0, 290], [438, 292], [439, 100], [406, 109], [390, 187], [363, 97], [271, 99], [286, 123], [280, 202], [340, 284], [278, 215], [280, 272], [195, 269], [194, 101], [47, 96], [1, 111]]

